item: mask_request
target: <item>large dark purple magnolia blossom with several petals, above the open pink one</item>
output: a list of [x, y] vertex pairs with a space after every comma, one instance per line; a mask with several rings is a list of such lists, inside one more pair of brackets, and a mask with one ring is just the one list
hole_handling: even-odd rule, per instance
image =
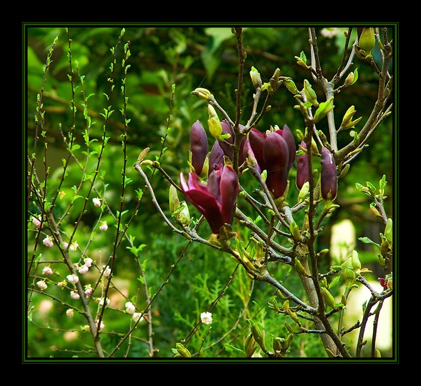
[[273, 197], [281, 197], [288, 183], [288, 174], [295, 161], [295, 140], [287, 125], [283, 130], [276, 130], [269, 135], [252, 129], [245, 151], [252, 152], [259, 171], [266, 170], [266, 186]]

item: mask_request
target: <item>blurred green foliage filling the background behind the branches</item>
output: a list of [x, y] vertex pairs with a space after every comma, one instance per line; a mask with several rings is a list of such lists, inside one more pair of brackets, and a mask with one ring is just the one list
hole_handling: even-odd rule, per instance
[[[118, 41], [121, 26], [71, 26], [69, 36], [71, 37], [71, 58], [75, 74], [84, 78], [84, 92], [90, 95], [88, 99], [88, 113], [95, 122], [92, 124], [90, 138], [97, 139], [91, 145], [91, 151], [99, 151], [100, 138], [103, 135], [104, 120], [99, 114], [107, 106], [107, 98], [104, 94], [110, 92], [110, 63], [112, 60], [110, 49], [115, 47]], [[316, 28], [318, 32], [318, 45], [320, 57], [323, 60], [322, 68], [325, 76], [330, 79], [336, 72], [338, 64], [342, 59], [343, 34], [339, 33], [334, 37], [324, 37], [320, 34], [322, 27]], [[345, 29], [345, 28], [344, 28]], [[72, 125], [76, 127], [76, 141], [83, 145], [83, 130], [86, 127], [83, 111], [83, 98], [80, 84], [75, 93], [75, 105], [78, 109], [77, 119], [73, 122], [72, 110], [69, 107], [72, 99], [72, 89], [69, 84], [69, 42], [64, 26], [29, 26], [26, 29], [27, 44], [27, 148], [28, 153], [34, 151], [37, 161], [36, 168], [38, 175], [44, 178], [44, 149], [39, 141], [34, 148], [35, 123], [37, 94], [43, 84], [43, 65], [54, 38], [58, 36], [58, 42], [52, 56], [52, 63], [46, 74], [47, 82], [44, 89], [44, 110], [46, 130], [46, 141], [48, 152], [46, 164], [50, 167], [47, 190], [53, 195], [58, 188], [61, 178], [62, 161], [67, 157], [66, 146], [62, 136], [68, 138], [68, 132]], [[188, 171], [188, 150], [189, 130], [191, 125], [200, 120], [206, 123], [207, 110], [203, 100], [191, 95], [196, 87], [203, 87], [211, 90], [220, 105], [235, 120], [235, 94], [237, 87], [238, 59], [236, 51], [236, 40], [231, 33], [230, 27], [200, 27], [200, 26], [127, 26], [123, 36], [122, 44], [119, 46], [116, 57], [119, 65], [115, 68], [115, 92], [112, 95], [111, 105], [113, 113], [107, 127], [107, 136], [110, 141], [105, 148], [101, 160], [99, 174], [102, 176], [96, 184], [97, 192], [91, 193], [89, 198], [88, 211], [83, 216], [83, 223], [77, 230], [74, 240], [77, 240], [81, 248], [89, 243], [89, 254], [102, 267], [108, 260], [113, 248], [113, 229], [115, 232], [116, 221], [107, 211], [104, 212], [101, 221], [107, 220], [109, 230], [101, 232], [96, 227], [100, 208], [92, 205], [94, 197], [106, 198], [107, 205], [113, 213], [119, 208], [119, 197], [122, 185], [122, 137], [124, 122], [118, 111], [122, 107], [123, 99], [120, 92], [123, 78], [122, 67], [122, 45], [130, 42], [131, 57], [130, 68], [126, 77], [126, 96], [128, 96], [127, 118], [131, 121], [128, 125], [127, 137], [127, 170], [126, 176], [133, 180], [126, 187], [124, 195], [123, 224], [127, 223], [138, 203], [136, 190], [144, 189], [144, 182], [139, 178], [137, 172], [132, 168], [139, 152], [145, 147], [150, 147], [148, 158], [154, 159], [159, 156], [162, 149], [162, 138], [165, 137], [163, 157], [160, 159], [161, 166], [171, 178], [178, 180], [180, 171]], [[255, 66], [262, 75], [263, 82], [268, 82], [273, 71], [279, 67], [281, 74], [290, 76], [299, 89], [305, 78], [308, 78], [306, 71], [296, 64], [294, 56], [299, 56], [304, 51], [309, 56], [308, 32], [304, 26], [274, 26], [274, 27], [247, 27], [243, 31], [243, 45], [247, 52], [245, 61], [242, 105], [243, 117], [248, 117], [253, 103], [253, 92], [249, 82], [248, 72]], [[376, 57], [375, 57], [376, 59]], [[358, 67], [359, 80], [352, 87], [342, 91], [337, 99], [335, 98], [335, 118], [340, 120], [350, 105], [355, 105], [356, 117], [368, 117], [373, 101], [376, 98], [376, 79], [372, 68], [367, 63], [359, 62], [355, 58], [355, 65], [352, 70]], [[78, 76], [76, 76], [78, 78]], [[171, 86], [175, 84], [175, 94], [171, 101]], [[313, 85], [314, 87], [314, 85]], [[323, 101], [322, 90], [314, 87], [319, 100]], [[293, 133], [296, 129], [304, 131], [302, 117], [297, 110], [293, 95], [286, 89], [281, 88], [271, 101], [271, 111], [266, 114], [259, 123], [258, 129], [266, 130], [270, 125], [282, 127], [288, 124]], [[168, 114], [170, 133], [166, 136]], [[325, 121], [320, 122], [318, 129], [327, 130]], [[39, 133], [38, 133], [39, 134]], [[338, 136], [339, 147], [350, 141], [347, 132]], [[358, 236], [365, 236], [368, 229], [377, 229], [377, 220], [370, 214], [369, 200], [355, 189], [355, 182], [365, 184], [365, 181], [375, 183], [383, 174], [387, 175], [392, 182], [393, 176], [393, 126], [392, 121], [385, 121], [370, 140], [370, 146], [362, 152], [350, 168], [345, 179], [340, 181], [337, 203], [341, 209], [335, 213], [335, 219], [350, 218], [357, 229]], [[297, 140], [298, 142], [298, 140]], [[75, 151], [77, 158], [84, 159], [83, 151], [86, 147], [81, 146]], [[94, 156], [94, 154], [92, 154]], [[87, 173], [94, 172], [97, 159], [92, 157], [87, 165]], [[63, 215], [65, 208], [73, 200], [72, 186], [80, 183], [80, 167], [75, 160], [69, 165], [65, 184], [61, 190], [65, 196], [57, 200], [54, 214], [57, 217]], [[103, 174], [101, 174], [103, 173]], [[148, 172], [150, 176], [151, 173]], [[295, 168], [291, 171], [291, 199], [296, 197], [294, 186]], [[103, 181], [101, 181], [103, 179]], [[170, 213], [167, 205], [168, 184], [164, 178], [155, 173], [152, 178], [152, 185], [156, 198], [168, 217]], [[244, 181], [244, 185], [253, 186], [253, 181]], [[105, 189], [106, 186], [106, 189]], [[74, 201], [71, 210], [68, 212], [61, 230], [63, 235], [71, 235], [73, 224], [78, 219], [82, 206], [83, 197], [87, 194], [85, 186], [82, 187], [80, 195], [82, 198]], [[393, 190], [388, 187], [386, 202], [388, 213], [392, 213]], [[239, 203], [241, 205], [241, 203]], [[190, 208], [195, 218], [198, 212]], [[39, 213], [39, 208], [30, 203], [29, 213]], [[251, 215], [251, 214], [250, 214]], [[30, 218], [28, 218], [30, 221]], [[36, 228], [29, 223], [28, 256], [33, 251], [33, 238]], [[234, 224], [234, 228], [236, 228]], [[379, 228], [380, 229], [380, 228]], [[373, 233], [377, 233], [374, 231]], [[206, 223], [201, 225], [201, 234], [210, 235], [210, 229]], [[146, 271], [148, 286], [151, 295], [166, 280], [171, 266], [176, 263], [187, 241], [177, 235], [165, 225], [161, 217], [151, 203], [149, 192], [145, 192], [142, 203], [134, 219], [130, 222], [127, 236], [134, 237], [136, 246], [146, 244], [140, 257], [140, 261]], [[241, 234], [243, 240], [247, 240], [247, 232]], [[329, 244], [329, 227], [326, 227], [326, 237], [321, 238], [321, 247]], [[372, 236], [372, 235], [368, 235]], [[206, 237], [206, 236], [204, 236]], [[375, 240], [375, 236], [372, 236]], [[375, 240], [378, 241], [378, 240]], [[127, 332], [130, 325], [130, 315], [125, 315], [124, 303], [127, 298], [134, 298], [139, 310], [145, 306], [145, 293], [138, 280], [138, 262], [126, 247], [130, 244], [123, 241], [118, 250], [118, 259], [115, 270], [116, 290], [112, 300], [113, 305], [110, 311], [104, 316], [106, 329], [101, 334], [101, 344], [104, 352], [113, 350], [120, 338]], [[369, 246], [362, 245], [362, 248]], [[46, 248], [41, 245], [38, 249], [42, 256], [40, 259], [41, 270], [43, 261], [57, 261], [60, 256], [54, 248]], [[73, 262], [81, 258], [80, 251], [70, 252]], [[374, 256], [373, 254], [369, 256]], [[368, 257], [371, 258], [371, 257]], [[61, 267], [63, 264], [54, 263], [54, 271], [58, 282]], [[185, 339], [200, 319], [200, 313], [207, 310], [209, 305], [218, 297], [218, 294], [228, 282], [234, 272], [236, 263], [228, 255], [218, 254], [209, 248], [201, 245], [190, 245], [186, 254], [182, 257], [177, 268], [172, 272], [168, 283], [165, 284], [157, 300], [152, 306], [154, 318], [154, 344], [159, 350], [159, 357], [172, 356], [171, 349], [175, 343]], [[327, 263], [326, 269], [329, 268]], [[291, 288], [299, 291], [299, 280], [291, 275], [285, 267], [278, 267], [277, 277], [279, 282], [286, 282]], [[57, 273], [56, 273], [57, 272]], [[90, 278], [83, 277], [88, 282]], [[30, 283], [28, 283], [30, 284]], [[251, 291], [252, 282], [245, 276], [242, 269], [238, 269], [232, 283], [225, 288], [221, 300], [217, 302], [212, 310], [214, 322], [212, 328], [202, 324], [198, 331], [193, 334], [186, 347], [193, 353], [201, 348], [203, 357], [229, 357], [235, 356], [224, 350], [224, 343], [229, 342], [237, 348], [242, 348], [245, 335], [249, 332], [248, 319], [254, 319], [265, 331], [267, 345], [271, 346], [270, 334], [275, 336], [286, 336], [287, 330], [284, 327], [284, 318], [269, 310], [267, 302], [275, 296], [273, 288], [268, 285], [256, 282], [249, 302], [248, 294]], [[98, 287], [97, 293], [100, 291]], [[119, 294], [124, 292], [124, 296]], [[89, 341], [89, 333], [81, 331], [86, 320], [75, 313], [74, 319], [65, 315], [66, 306], [54, 298], [63, 297], [63, 290], [57, 286], [50, 285], [48, 291], [51, 297], [34, 293], [32, 296], [31, 313], [28, 322], [27, 346], [29, 357], [47, 358], [53, 357], [96, 357], [92, 352]], [[297, 293], [297, 296], [305, 296], [304, 293]], [[43, 301], [53, 301], [53, 306], [47, 311], [41, 311]], [[77, 301], [67, 299], [68, 302], [77, 304]], [[281, 302], [282, 299], [278, 298]], [[72, 303], [72, 304], [73, 304]], [[46, 305], [46, 303], [44, 303]], [[48, 305], [48, 304], [47, 304]], [[47, 307], [48, 308], [48, 307]], [[244, 311], [245, 308], [245, 311]], [[243, 313], [242, 313], [243, 312]], [[281, 326], [281, 327], [280, 327]], [[232, 331], [231, 331], [232, 329]], [[74, 332], [77, 330], [77, 332]], [[231, 331], [229, 334], [226, 334]], [[116, 357], [148, 357], [149, 346], [145, 339], [148, 336], [146, 323], [139, 324], [133, 332], [133, 338], [126, 340]], [[204, 341], [202, 342], [202, 339]], [[217, 342], [217, 343], [215, 343]], [[203, 344], [203, 346], [201, 346]], [[291, 346], [291, 356], [317, 357], [323, 346], [317, 336], [297, 335], [294, 337]]]

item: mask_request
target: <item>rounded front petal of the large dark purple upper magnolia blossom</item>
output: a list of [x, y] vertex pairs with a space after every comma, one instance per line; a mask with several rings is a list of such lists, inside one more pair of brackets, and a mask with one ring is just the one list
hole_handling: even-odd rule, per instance
[[266, 186], [275, 199], [284, 194], [289, 173], [288, 143], [278, 131], [270, 133], [263, 146], [263, 159], [267, 171]]

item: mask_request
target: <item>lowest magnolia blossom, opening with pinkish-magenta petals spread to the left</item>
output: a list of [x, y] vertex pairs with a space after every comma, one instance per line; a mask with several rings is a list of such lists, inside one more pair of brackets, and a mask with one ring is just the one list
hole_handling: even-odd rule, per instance
[[209, 174], [207, 185], [194, 173], [186, 182], [180, 174], [180, 185], [187, 199], [203, 214], [214, 234], [224, 224], [232, 225], [238, 195], [238, 176], [231, 166], [220, 165]]

